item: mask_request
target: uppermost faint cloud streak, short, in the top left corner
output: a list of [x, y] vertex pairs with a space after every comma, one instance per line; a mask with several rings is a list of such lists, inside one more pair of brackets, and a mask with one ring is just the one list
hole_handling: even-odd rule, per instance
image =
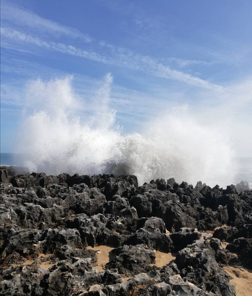
[[71, 38], [81, 39], [87, 43], [93, 41], [93, 38], [88, 34], [81, 33], [75, 28], [60, 25], [51, 20], [42, 18], [31, 11], [20, 9], [6, 3], [1, 4], [1, 20], [7, 22], [11, 21], [18, 25], [21, 24], [22, 26], [28, 27], [31, 31], [45, 32], [47, 34], [52, 34], [53, 36], [64, 35]]

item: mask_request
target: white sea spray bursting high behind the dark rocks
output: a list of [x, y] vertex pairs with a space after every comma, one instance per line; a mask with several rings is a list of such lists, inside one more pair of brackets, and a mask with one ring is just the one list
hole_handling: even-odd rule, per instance
[[149, 120], [142, 133], [124, 134], [109, 107], [110, 74], [89, 114], [71, 83], [67, 76], [27, 85], [18, 148], [30, 171], [134, 174], [139, 184], [170, 177], [211, 186], [220, 178], [226, 185], [232, 180], [234, 152], [217, 122], [203, 124], [203, 114], [197, 117], [188, 106], [180, 106]]

